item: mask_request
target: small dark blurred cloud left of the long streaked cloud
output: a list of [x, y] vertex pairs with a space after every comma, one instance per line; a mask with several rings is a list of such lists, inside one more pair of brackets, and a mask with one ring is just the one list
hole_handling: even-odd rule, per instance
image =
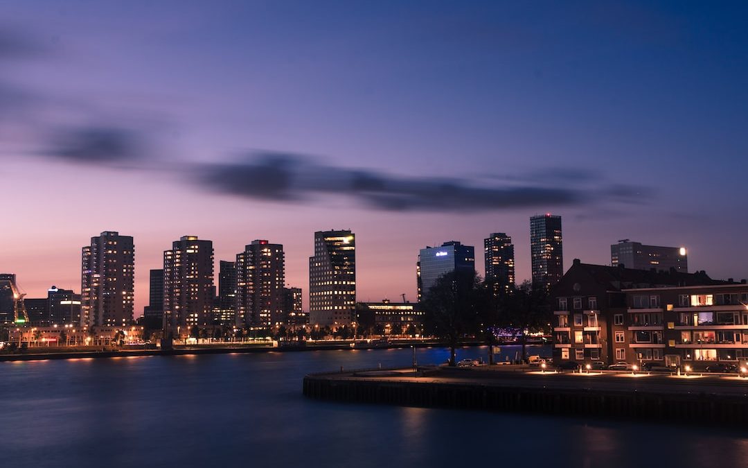
[[69, 162], [129, 165], [141, 159], [144, 137], [132, 130], [89, 127], [58, 132], [46, 156]]

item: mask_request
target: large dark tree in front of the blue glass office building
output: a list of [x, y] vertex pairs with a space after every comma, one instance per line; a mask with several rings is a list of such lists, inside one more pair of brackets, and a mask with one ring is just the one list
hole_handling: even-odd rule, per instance
[[428, 332], [447, 341], [450, 365], [456, 365], [456, 347], [468, 333], [478, 331], [482, 300], [480, 278], [454, 272], [440, 276], [423, 299]]

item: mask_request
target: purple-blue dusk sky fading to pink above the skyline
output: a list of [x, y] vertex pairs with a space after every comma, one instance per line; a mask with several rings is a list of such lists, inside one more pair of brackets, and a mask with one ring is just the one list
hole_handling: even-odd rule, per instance
[[[704, 1], [0, 3], [0, 270], [80, 290], [81, 247], [183, 235], [216, 262], [356, 234], [358, 300], [416, 297], [418, 250], [562, 216], [564, 267], [686, 246], [748, 277], [748, 4]], [[307, 306], [305, 301], [304, 306]]]

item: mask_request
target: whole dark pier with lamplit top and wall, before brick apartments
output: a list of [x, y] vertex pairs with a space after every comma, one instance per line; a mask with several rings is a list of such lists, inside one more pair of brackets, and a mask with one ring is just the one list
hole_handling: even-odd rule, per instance
[[556, 374], [526, 368], [422, 368], [399, 374], [304, 377], [304, 395], [328, 401], [745, 426], [748, 378]]

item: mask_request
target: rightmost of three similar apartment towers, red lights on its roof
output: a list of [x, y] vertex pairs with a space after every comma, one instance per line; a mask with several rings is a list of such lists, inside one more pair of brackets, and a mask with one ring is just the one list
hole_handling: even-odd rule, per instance
[[236, 297], [242, 325], [268, 328], [284, 323], [285, 272], [281, 244], [253, 240], [236, 255]]

